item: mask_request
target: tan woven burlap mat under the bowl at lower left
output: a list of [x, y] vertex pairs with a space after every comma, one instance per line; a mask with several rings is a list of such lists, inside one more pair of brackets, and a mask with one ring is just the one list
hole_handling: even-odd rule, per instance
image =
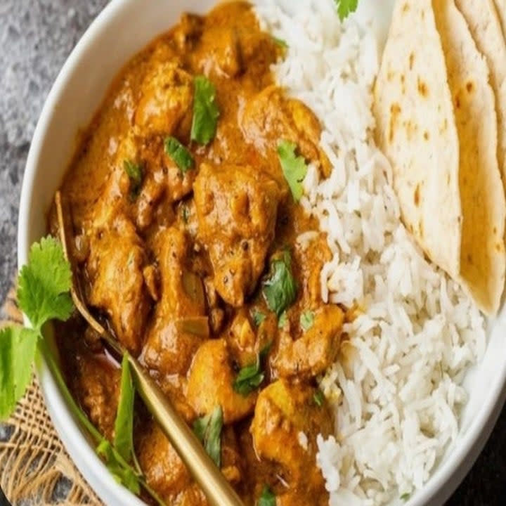
[[[20, 321], [13, 289], [0, 310], [0, 327]], [[0, 487], [13, 506], [102, 505], [63, 448], [36, 377], [0, 430]]]

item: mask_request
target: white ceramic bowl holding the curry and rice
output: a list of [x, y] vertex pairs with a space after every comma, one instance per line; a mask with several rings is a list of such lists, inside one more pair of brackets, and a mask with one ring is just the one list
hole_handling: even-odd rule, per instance
[[[205, 13], [215, 3], [215, 0], [113, 0], [89, 27], [56, 79], [34, 134], [20, 203], [20, 266], [26, 263], [32, 242], [46, 234], [46, 212], [76, 148], [77, 132], [89, 124], [117, 72], [157, 34], [174, 25], [182, 11]], [[374, 18], [377, 30], [384, 34], [391, 4], [391, 0], [361, 0], [360, 15]], [[462, 413], [458, 441], [408, 505], [441, 505], [483, 448], [506, 397], [505, 335], [503, 310], [489, 325], [490, 342], [484, 360], [467, 375], [469, 402]], [[65, 448], [100, 498], [113, 506], [143, 505], [112, 479], [96, 457], [41, 357], [37, 358], [37, 373], [46, 406]]]

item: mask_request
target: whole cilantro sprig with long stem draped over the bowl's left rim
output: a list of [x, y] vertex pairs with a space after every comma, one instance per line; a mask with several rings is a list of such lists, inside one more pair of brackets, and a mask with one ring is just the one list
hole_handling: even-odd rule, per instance
[[[65, 321], [74, 306], [70, 297], [72, 271], [63, 248], [51, 236], [41, 239], [30, 249], [27, 265], [18, 278], [18, 302], [32, 327], [17, 325], [0, 330], [0, 420], [6, 420], [25, 394], [32, 377], [32, 362], [37, 350], [48, 368], [74, 417], [96, 444], [96, 452], [110, 473], [133, 493], [143, 488], [158, 505], [164, 502], [148, 486], [134, 453], [134, 384], [128, 356], [122, 363], [122, 382], [115, 421], [115, 441], [110, 443], [91, 423], [67, 387], [42, 329], [51, 320]], [[130, 462], [134, 464], [131, 465]]]

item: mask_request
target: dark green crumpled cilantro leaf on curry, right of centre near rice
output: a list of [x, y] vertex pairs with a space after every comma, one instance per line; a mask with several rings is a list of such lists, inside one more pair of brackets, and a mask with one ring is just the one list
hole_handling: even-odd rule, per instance
[[271, 277], [264, 281], [263, 293], [268, 309], [278, 318], [295, 301], [297, 283], [292, 275], [292, 257], [287, 250], [282, 257], [271, 261]]

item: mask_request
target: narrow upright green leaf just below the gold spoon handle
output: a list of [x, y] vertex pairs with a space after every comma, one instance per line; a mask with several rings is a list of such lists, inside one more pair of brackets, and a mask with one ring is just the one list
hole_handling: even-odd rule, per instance
[[134, 455], [134, 401], [134, 382], [131, 377], [128, 353], [125, 353], [122, 360], [114, 446], [126, 461], [129, 461]]

